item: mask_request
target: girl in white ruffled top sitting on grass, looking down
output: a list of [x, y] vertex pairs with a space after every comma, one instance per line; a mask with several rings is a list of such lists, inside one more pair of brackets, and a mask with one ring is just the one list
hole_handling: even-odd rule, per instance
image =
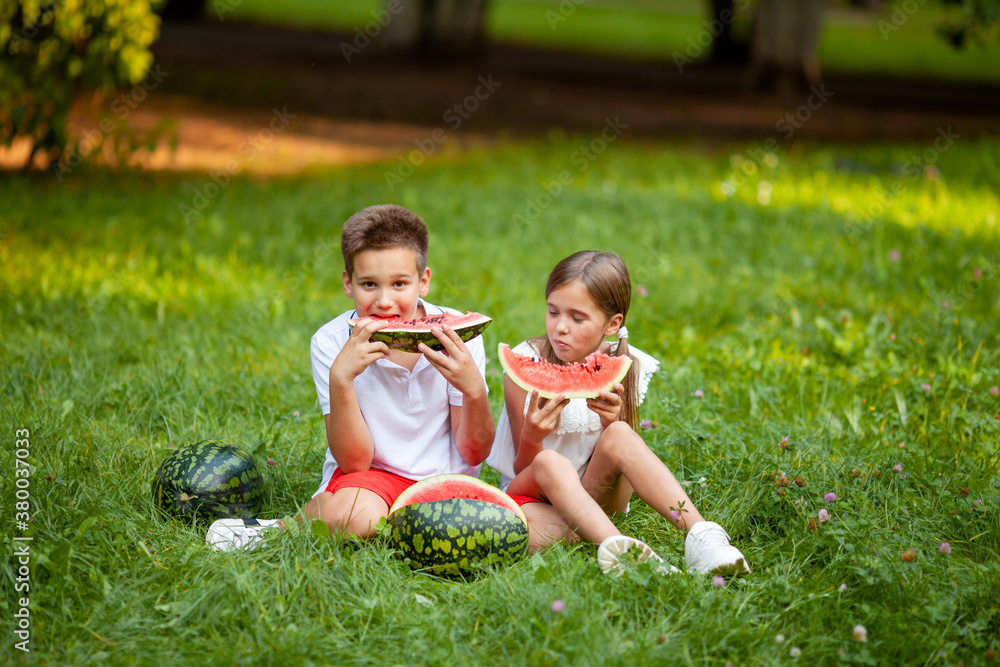
[[[676, 478], [635, 432], [639, 404], [659, 368], [630, 348], [625, 317], [632, 300], [628, 269], [614, 253], [578, 252], [559, 262], [545, 287], [545, 336], [515, 351], [552, 363], [582, 362], [595, 350], [632, 357], [624, 384], [596, 399], [539, 399], [504, 378], [504, 409], [487, 462], [500, 486], [522, 506], [532, 550], [578, 537], [599, 544], [604, 572], [620, 576], [621, 556], [657, 556], [643, 542], [622, 535], [609, 515], [628, 511], [633, 490], [680, 530], [689, 571], [746, 574], [743, 554], [722, 526], [706, 521]], [[607, 342], [614, 336], [617, 342]], [[674, 568], [671, 568], [674, 570]]]

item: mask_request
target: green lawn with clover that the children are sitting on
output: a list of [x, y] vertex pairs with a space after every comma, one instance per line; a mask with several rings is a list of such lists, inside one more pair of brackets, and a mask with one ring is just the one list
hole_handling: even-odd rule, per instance
[[[8, 632], [0, 660], [721, 666], [786, 664], [794, 646], [801, 664], [987, 664], [1000, 649], [1000, 145], [963, 138], [914, 176], [926, 146], [797, 144], [743, 179], [755, 144], [622, 139], [580, 169], [590, 140], [436, 158], [394, 192], [395, 162], [237, 178], [190, 223], [179, 206], [204, 175], [0, 180], [0, 610], [12, 627], [29, 597], [33, 632], [27, 656]], [[572, 183], [549, 202], [562, 170]], [[895, 180], [888, 207], [859, 218]], [[519, 227], [531, 200], [544, 211]], [[492, 315], [487, 350], [542, 330], [558, 259], [625, 257], [647, 294], [631, 341], [663, 364], [644, 436], [752, 576], [611, 580], [592, 545], [557, 545], [450, 582], [410, 572], [381, 539], [288, 531], [214, 553], [203, 528], [157, 515], [157, 465], [204, 438], [274, 459], [266, 516], [312, 493], [324, 436], [308, 342], [349, 303], [343, 220], [384, 201], [426, 218], [430, 297]], [[488, 379], [496, 414], [492, 355]], [[27, 593], [10, 555], [25, 534], [16, 429], [31, 442]], [[778, 495], [779, 470], [806, 486]], [[832, 519], [810, 529], [820, 508]], [[643, 503], [620, 525], [682, 564], [681, 536]]]

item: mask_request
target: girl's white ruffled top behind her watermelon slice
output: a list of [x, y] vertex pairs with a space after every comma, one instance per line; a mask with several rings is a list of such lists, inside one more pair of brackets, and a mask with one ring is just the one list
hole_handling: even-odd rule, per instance
[[[617, 345], [617, 343], [612, 345]], [[514, 348], [514, 352], [536, 359], [541, 358], [541, 354], [531, 341], [524, 341]], [[631, 345], [629, 353], [634, 359], [633, 363], [639, 364], [638, 385], [639, 403], [641, 404], [646, 398], [649, 381], [660, 369], [660, 362]], [[524, 397], [524, 414], [528, 413], [530, 401], [531, 394], [529, 393]], [[601, 418], [587, 407], [587, 399], [571, 398], [569, 405], [563, 408], [559, 418], [559, 426], [542, 441], [542, 447], [554, 449], [568, 458], [576, 466], [580, 476], [583, 477], [600, 435]], [[507, 486], [514, 479], [514, 438], [511, 435], [506, 403], [504, 403], [503, 412], [497, 422], [493, 449], [490, 451], [486, 463], [500, 472], [500, 488], [506, 491]]]

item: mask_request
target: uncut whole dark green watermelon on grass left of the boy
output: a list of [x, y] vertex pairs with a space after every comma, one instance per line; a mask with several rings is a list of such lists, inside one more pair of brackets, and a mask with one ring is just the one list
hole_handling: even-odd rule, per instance
[[235, 445], [203, 440], [160, 464], [153, 503], [188, 521], [253, 519], [264, 504], [264, 477], [253, 457]]

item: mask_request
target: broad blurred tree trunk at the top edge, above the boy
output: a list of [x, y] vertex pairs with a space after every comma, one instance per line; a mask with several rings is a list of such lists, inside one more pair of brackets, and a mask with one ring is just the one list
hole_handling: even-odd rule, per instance
[[459, 55], [483, 44], [487, 0], [387, 0], [392, 14], [382, 35], [389, 51]]

